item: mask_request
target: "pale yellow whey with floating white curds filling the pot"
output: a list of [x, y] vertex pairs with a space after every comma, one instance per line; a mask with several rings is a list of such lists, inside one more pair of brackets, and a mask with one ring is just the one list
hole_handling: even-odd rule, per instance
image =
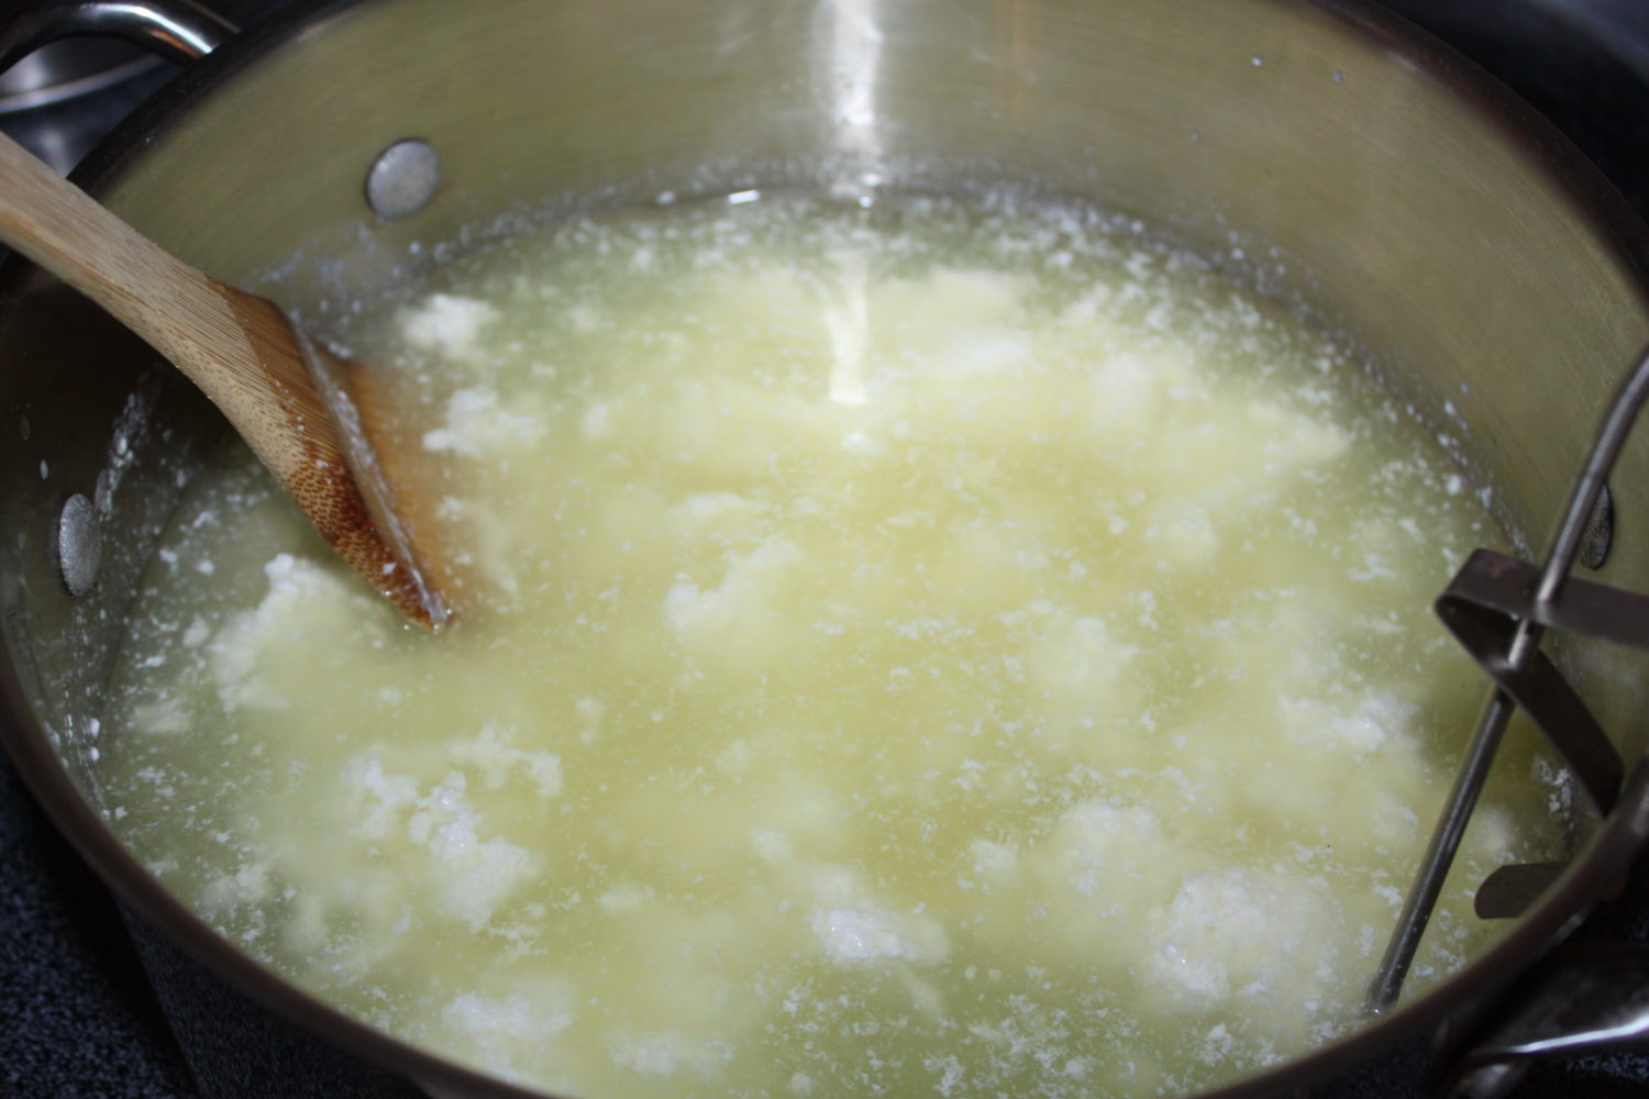
[[[1172, 1096], [1359, 1023], [1481, 692], [1428, 605], [1501, 539], [1285, 310], [1072, 211], [763, 193], [340, 336], [457, 624], [236, 451], [102, 715], [112, 825], [247, 951], [582, 1099]], [[1560, 850], [1530, 741], [1420, 985]]]

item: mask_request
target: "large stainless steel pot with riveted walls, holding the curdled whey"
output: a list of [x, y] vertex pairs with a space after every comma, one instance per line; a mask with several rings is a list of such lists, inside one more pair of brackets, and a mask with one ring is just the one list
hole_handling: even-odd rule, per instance
[[[402, 138], [439, 155], [440, 183], [389, 217], [363, 188]], [[1364, 348], [1534, 540], [1649, 336], [1649, 234], [1624, 204], [1534, 112], [1352, 0], [310, 3], [193, 66], [79, 176], [186, 260], [308, 313], [500, 214], [663, 189], [1006, 181], [1095, 203]], [[437, 1094], [526, 1094], [284, 984], [102, 825], [96, 715], [122, 615], [224, 428], [63, 287], [18, 264], [5, 285], [0, 694], [18, 768], [132, 905], [246, 990]], [[1644, 484], [1639, 445], [1598, 575], [1639, 592]], [[1586, 644], [1565, 659], [1633, 773], [1614, 814], [1581, 824], [1568, 872], [1458, 977], [1222, 1096], [1298, 1087], [1471, 1017], [1618, 878], [1649, 834], [1644, 666]]]

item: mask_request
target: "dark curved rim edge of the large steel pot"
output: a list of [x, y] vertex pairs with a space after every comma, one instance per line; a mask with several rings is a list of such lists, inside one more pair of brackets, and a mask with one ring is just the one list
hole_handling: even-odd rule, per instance
[[[242, 69], [313, 35], [322, 26], [371, 0], [297, 0], [234, 35], [211, 54], [183, 69], [124, 119], [73, 171], [92, 194], [115, 185], [175, 120]], [[1623, 262], [1637, 297], [1649, 308], [1649, 229], [1603, 173], [1543, 115], [1519, 99], [1476, 63], [1374, 0], [1253, 0], [1296, 18], [1327, 18], [1354, 36], [1410, 61], [1445, 94], [1466, 102], [1489, 130], [1507, 140], [1545, 175]], [[13, 277], [23, 267], [3, 265]], [[10, 282], [10, 278], [8, 278]], [[1624, 364], [1623, 364], [1624, 366]], [[1576, 468], [1580, 456], [1576, 456]], [[325, 1000], [303, 992], [257, 962], [190, 911], [125, 850], [104, 824], [28, 710], [12, 654], [0, 646], [0, 745], [46, 816], [87, 865], [145, 921], [180, 944], [237, 990], [261, 1005], [419, 1086], [475, 1099], [544, 1099], [552, 1092], [526, 1089], [485, 1076], [407, 1041], [391, 1036]], [[1435, 989], [1402, 1002], [1344, 1038], [1281, 1066], [1199, 1092], [1204, 1099], [1248, 1099], [1321, 1083], [1393, 1048], [1403, 1038], [1436, 1027], [1463, 1005], [1502, 990], [1545, 951], [1573, 931], [1598, 900], [1626, 873], [1649, 839], [1649, 761], [1634, 766], [1616, 809], [1580, 849], [1562, 878], [1540, 903], [1497, 942]]]

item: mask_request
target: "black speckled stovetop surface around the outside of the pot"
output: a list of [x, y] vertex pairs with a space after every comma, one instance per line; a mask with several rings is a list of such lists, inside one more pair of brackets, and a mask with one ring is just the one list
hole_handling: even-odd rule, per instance
[[[1388, 0], [1550, 117], [1649, 219], [1649, 0]], [[0, 117], [66, 166], [168, 79]], [[0, 756], [0, 1097], [300, 1099], [420, 1092], [294, 1031], [137, 928]], [[1649, 942], [1649, 863], [1580, 936]], [[150, 972], [165, 974], [158, 984]], [[158, 989], [158, 992], [157, 992]], [[1412, 1061], [1313, 1092], [1420, 1096]], [[1517, 1099], [1649, 1099], [1649, 1058], [1537, 1068]]]

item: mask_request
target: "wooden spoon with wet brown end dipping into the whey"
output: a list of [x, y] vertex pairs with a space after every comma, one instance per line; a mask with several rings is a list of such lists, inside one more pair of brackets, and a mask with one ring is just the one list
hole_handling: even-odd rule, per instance
[[142, 336], [201, 387], [322, 537], [412, 621], [450, 608], [350, 395], [350, 372], [270, 302], [165, 252], [0, 133], [0, 242]]

